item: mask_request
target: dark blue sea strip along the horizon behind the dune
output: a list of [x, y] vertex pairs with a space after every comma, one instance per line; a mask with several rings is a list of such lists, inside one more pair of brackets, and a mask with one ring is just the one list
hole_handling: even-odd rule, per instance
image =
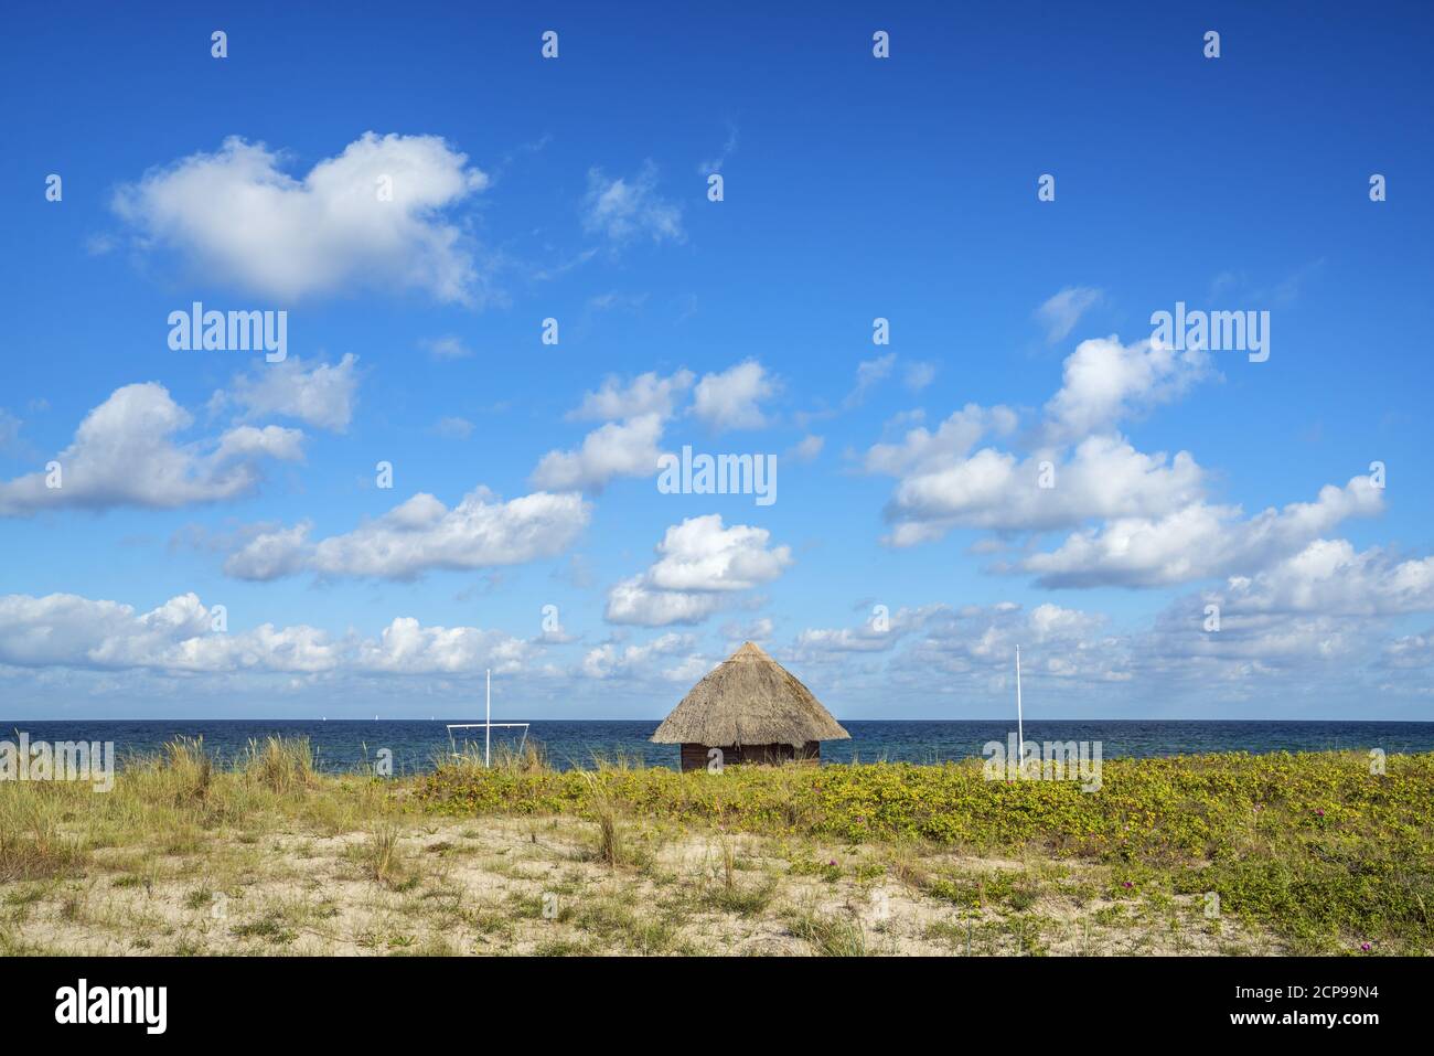
[[[470, 722], [470, 720], [463, 720]], [[843, 723], [850, 740], [822, 745], [826, 762], [935, 763], [981, 755], [988, 740], [1005, 743], [1014, 726], [999, 720]], [[529, 737], [542, 743], [554, 766], [591, 766], [597, 759], [625, 758], [648, 766], [677, 766], [677, 745], [652, 745], [657, 722], [533, 722]], [[307, 736], [327, 770], [353, 769], [393, 753], [394, 770], [432, 769], [449, 752], [443, 722], [317, 719], [179, 719], [96, 722], [0, 722], [0, 740], [24, 732], [30, 740], [112, 740], [123, 758], [148, 753], [175, 736], [204, 737], [221, 759], [234, 759], [250, 739], [270, 735]], [[482, 730], [478, 730], [482, 749]], [[1434, 752], [1434, 722], [1183, 722], [1139, 719], [1037, 720], [1025, 723], [1027, 740], [1088, 740], [1101, 743], [1104, 759], [1192, 755], [1205, 752], [1322, 752], [1384, 749]], [[493, 745], [518, 745], [518, 735], [493, 732]]]

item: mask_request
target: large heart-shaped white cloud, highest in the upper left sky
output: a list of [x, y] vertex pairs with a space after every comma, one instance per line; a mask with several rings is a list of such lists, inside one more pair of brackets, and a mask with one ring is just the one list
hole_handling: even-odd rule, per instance
[[480, 298], [479, 268], [442, 214], [488, 176], [442, 138], [366, 132], [301, 178], [284, 161], [231, 136], [119, 188], [113, 208], [145, 245], [282, 301], [353, 287]]

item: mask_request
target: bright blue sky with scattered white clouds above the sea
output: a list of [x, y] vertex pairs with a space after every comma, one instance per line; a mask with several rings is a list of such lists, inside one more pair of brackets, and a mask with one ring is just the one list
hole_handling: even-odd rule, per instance
[[[1005, 715], [1017, 643], [1050, 717], [1430, 715], [1420, 6], [6, 29], [3, 715], [467, 715], [492, 667], [657, 717], [749, 637], [839, 717]], [[172, 350], [194, 301], [288, 359]], [[1177, 301], [1269, 359], [1153, 344]], [[684, 445], [776, 501], [664, 494]]]

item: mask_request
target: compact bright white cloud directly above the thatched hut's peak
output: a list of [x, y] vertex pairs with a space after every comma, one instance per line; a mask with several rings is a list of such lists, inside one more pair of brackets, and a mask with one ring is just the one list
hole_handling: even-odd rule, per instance
[[657, 545], [658, 560], [608, 591], [608, 621], [701, 623], [730, 607], [734, 594], [771, 583], [792, 564], [790, 547], [769, 547], [770, 538], [766, 528], [724, 528], [720, 514], [673, 525]]

